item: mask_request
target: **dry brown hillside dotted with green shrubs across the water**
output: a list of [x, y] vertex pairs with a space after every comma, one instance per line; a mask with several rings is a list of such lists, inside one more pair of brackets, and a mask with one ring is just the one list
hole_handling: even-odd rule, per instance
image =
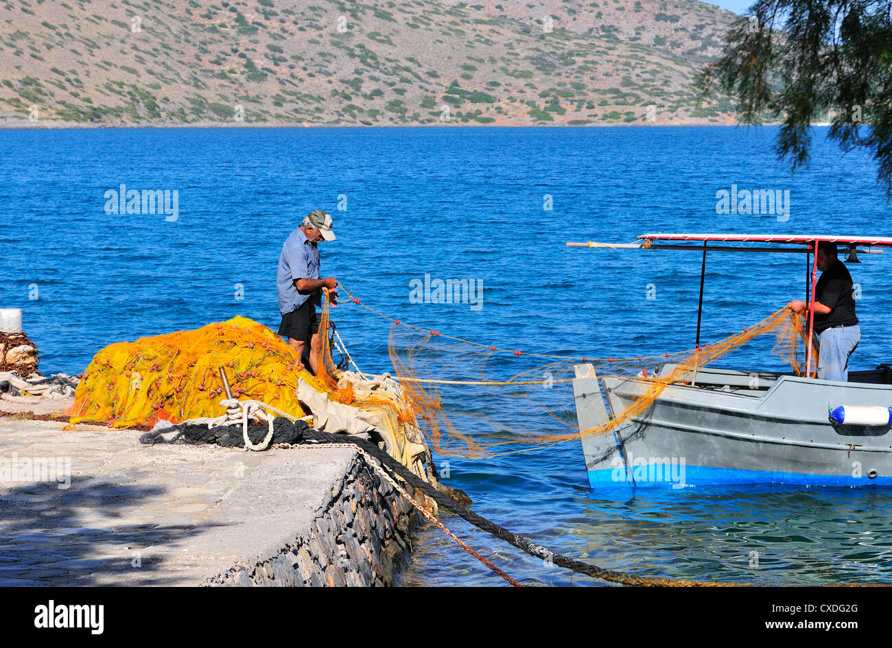
[[0, 124], [726, 123], [696, 0], [0, 0]]

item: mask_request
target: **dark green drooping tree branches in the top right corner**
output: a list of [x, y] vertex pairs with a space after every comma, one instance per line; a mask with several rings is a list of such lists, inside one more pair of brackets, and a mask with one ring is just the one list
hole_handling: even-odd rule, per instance
[[890, 12], [892, 0], [761, 0], [698, 79], [700, 97], [718, 86], [748, 123], [782, 119], [776, 148], [793, 168], [810, 160], [813, 120], [832, 114], [828, 137], [870, 152], [892, 198]]

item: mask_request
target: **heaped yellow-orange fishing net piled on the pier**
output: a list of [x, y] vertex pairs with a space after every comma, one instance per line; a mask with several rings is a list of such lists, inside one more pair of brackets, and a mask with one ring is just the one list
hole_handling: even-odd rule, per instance
[[305, 381], [344, 405], [374, 412], [400, 438], [400, 423], [414, 421], [413, 409], [384, 390], [358, 396], [341, 379], [332, 361], [327, 332], [328, 303], [319, 331], [323, 343], [314, 352], [318, 375], [303, 368], [294, 349], [267, 326], [245, 317], [208, 324], [193, 331], [118, 342], [102, 349], [87, 366], [64, 414], [71, 423], [104, 423], [116, 428], [152, 426], [160, 420], [183, 422], [223, 414], [226, 398], [219, 377], [225, 367], [236, 399], [262, 400], [301, 417], [308, 414], [296, 394]]

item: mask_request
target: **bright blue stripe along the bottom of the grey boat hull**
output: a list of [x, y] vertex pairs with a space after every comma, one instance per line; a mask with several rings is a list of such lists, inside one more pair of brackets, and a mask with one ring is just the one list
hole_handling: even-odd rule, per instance
[[796, 484], [799, 486], [892, 486], [892, 476], [879, 476], [871, 480], [866, 475], [856, 478], [851, 475], [744, 471], [733, 468], [709, 468], [706, 466], [670, 466], [669, 464], [661, 463], [635, 466], [628, 478], [622, 467], [589, 471], [591, 488], [604, 488], [611, 484], [632, 485], [632, 477], [635, 477], [635, 486], [660, 486], [663, 488], [772, 483]]

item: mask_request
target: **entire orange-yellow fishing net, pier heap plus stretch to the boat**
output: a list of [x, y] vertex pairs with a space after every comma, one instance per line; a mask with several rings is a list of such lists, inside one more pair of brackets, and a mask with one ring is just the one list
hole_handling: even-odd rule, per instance
[[[324, 332], [322, 343], [313, 352], [318, 376], [302, 367], [294, 350], [276, 332], [234, 317], [194, 331], [111, 344], [87, 367], [75, 403], [65, 414], [72, 423], [102, 422], [114, 427], [218, 416], [223, 413], [219, 401], [225, 398], [218, 369], [224, 366], [234, 398], [262, 400], [300, 417], [307, 414], [295, 393], [302, 378], [331, 400], [374, 413], [397, 439], [396, 445], [401, 446], [407, 431], [415, 439], [418, 426], [443, 455], [485, 457], [579, 439], [569, 387], [575, 364], [593, 365], [599, 377], [634, 376], [648, 385], [638, 400], [610, 422], [582, 432], [601, 434], [645, 412], [668, 385], [685, 381], [691, 372], [768, 333], [777, 338], [772, 353], [794, 373], [803, 373], [805, 363], [805, 321], [787, 308], [700, 349], [637, 358], [506, 352], [388, 318], [392, 321], [388, 348], [401, 389], [378, 389], [380, 385], [369, 387], [366, 377], [358, 380], [335, 367], [326, 334], [329, 308], [326, 299], [319, 326]], [[548, 364], [542, 365], [543, 359]], [[657, 377], [660, 365], [673, 365], [673, 369]], [[816, 366], [815, 353], [812, 367]], [[456, 385], [457, 376], [466, 380]], [[444, 408], [441, 389], [475, 390], [485, 406]], [[450, 403], [459, 406], [467, 400], [450, 397]], [[506, 422], [506, 412], [510, 412], [510, 422]], [[406, 453], [408, 457], [409, 450]]]

